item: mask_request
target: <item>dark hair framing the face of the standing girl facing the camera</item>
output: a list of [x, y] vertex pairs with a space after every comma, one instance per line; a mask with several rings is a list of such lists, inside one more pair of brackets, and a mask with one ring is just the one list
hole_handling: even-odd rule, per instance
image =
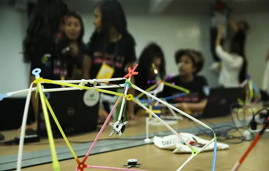
[[[83, 36], [84, 36], [84, 33], [85, 33], [85, 28], [84, 28], [84, 23], [83, 23], [82, 17], [78, 13], [76, 13], [74, 11], [69, 11], [68, 12], [68, 14], [66, 15], [66, 19], [69, 18], [69, 17], [74, 17], [77, 20], [79, 20], [79, 22], [80, 22], [81, 30], [80, 30], [80, 35], [79, 35], [79, 37], [77, 39], [77, 43], [78, 43], [78, 46], [80, 48], [83, 48], [83, 46], [84, 46]], [[69, 38], [67, 37], [67, 35], [65, 33], [63, 33], [62, 37], [58, 41], [59, 47], [65, 48], [67, 45], [69, 45], [69, 43], [70, 43]]]

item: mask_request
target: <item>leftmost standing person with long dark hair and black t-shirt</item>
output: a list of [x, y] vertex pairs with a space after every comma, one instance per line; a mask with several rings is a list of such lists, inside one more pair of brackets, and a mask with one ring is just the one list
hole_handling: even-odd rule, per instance
[[[55, 43], [60, 31], [60, 24], [67, 14], [67, 6], [62, 0], [38, 0], [33, 9], [32, 18], [27, 27], [26, 38], [23, 40], [23, 61], [31, 64], [30, 83], [36, 78], [32, 70], [41, 68], [40, 77], [50, 80], [61, 80], [67, 75], [66, 64]], [[55, 88], [57, 85], [43, 84], [45, 88]], [[33, 84], [35, 87], [36, 84]], [[31, 102], [35, 121], [26, 126], [27, 129], [37, 129], [39, 96], [32, 92]], [[20, 130], [20, 129], [19, 129]]]

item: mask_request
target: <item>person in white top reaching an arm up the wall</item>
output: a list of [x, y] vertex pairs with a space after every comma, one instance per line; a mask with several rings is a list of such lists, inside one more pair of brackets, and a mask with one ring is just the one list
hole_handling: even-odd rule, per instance
[[238, 87], [240, 84], [239, 74], [243, 65], [243, 57], [240, 55], [240, 43], [232, 42], [230, 53], [221, 46], [222, 30], [218, 28], [216, 39], [216, 53], [222, 62], [219, 84], [224, 87]]

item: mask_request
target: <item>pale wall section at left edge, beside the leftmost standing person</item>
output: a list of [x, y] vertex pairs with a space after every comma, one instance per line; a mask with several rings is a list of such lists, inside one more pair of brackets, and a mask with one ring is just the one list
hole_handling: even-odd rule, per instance
[[[0, 93], [29, 87], [29, 66], [22, 63], [26, 13], [0, 6]], [[22, 95], [25, 96], [25, 95]]]

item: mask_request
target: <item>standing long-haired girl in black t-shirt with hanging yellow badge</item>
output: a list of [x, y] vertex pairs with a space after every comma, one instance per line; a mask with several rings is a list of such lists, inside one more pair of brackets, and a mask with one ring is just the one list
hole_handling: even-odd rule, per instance
[[[97, 78], [101, 66], [112, 68], [111, 78], [124, 77], [127, 68], [134, 67], [136, 56], [135, 41], [127, 29], [126, 16], [121, 4], [117, 0], [99, 2], [94, 9], [93, 23], [95, 31], [90, 37], [89, 53], [84, 60], [84, 78]], [[135, 84], [134, 76], [131, 82]], [[121, 81], [112, 82], [117, 85], [122, 83]], [[116, 88], [109, 90], [117, 91]], [[134, 94], [134, 89], [130, 88], [129, 92]], [[105, 94], [105, 96], [110, 96], [110, 94]], [[104, 108], [100, 108], [99, 112], [101, 112], [100, 116], [106, 119], [111, 107], [107, 102], [103, 105]], [[134, 120], [134, 102], [128, 101], [127, 107], [129, 120]]]

